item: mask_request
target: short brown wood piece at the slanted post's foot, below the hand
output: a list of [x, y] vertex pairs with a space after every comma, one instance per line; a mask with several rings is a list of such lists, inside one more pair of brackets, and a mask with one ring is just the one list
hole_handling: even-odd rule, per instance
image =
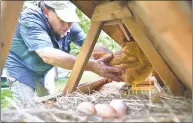
[[100, 89], [104, 84], [108, 83], [109, 79], [100, 79], [94, 82], [85, 82], [77, 87], [77, 91], [85, 94], [90, 94], [93, 90]]

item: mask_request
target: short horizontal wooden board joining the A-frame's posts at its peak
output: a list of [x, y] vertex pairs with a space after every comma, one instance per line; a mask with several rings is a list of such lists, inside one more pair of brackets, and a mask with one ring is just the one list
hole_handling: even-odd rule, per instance
[[126, 3], [125, 1], [113, 1], [99, 4], [95, 8], [91, 20], [108, 21], [131, 17], [132, 15], [127, 9]]

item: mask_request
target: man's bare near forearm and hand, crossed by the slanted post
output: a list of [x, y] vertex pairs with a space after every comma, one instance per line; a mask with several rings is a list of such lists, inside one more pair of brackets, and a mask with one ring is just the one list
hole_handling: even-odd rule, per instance
[[[76, 61], [76, 57], [55, 48], [47, 47], [38, 49], [36, 50], [36, 53], [45, 63], [64, 69], [72, 69]], [[99, 60], [89, 60], [85, 66], [85, 70], [92, 71], [100, 76], [107, 77], [114, 81], [121, 81], [118, 76], [123, 73], [123, 70], [106, 65], [106, 63], [108, 63], [111, 59], [112, 56], [109, 55]]]

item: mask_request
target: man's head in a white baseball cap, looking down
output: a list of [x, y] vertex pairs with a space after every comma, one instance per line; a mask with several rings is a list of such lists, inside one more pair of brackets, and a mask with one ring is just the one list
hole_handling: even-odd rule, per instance
[[80, 21], [70, 1], [44, 1], [40, 7], [53, 30], [60, 35], [68, 31], [72, 22]]

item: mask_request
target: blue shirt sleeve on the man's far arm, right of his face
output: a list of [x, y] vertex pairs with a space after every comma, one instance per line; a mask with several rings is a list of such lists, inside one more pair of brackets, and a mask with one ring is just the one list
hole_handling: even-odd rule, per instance
[[77, 23], [73, 23], [70, 29], [70, 40], [78, 46], [82, 46], [86, 34]]

